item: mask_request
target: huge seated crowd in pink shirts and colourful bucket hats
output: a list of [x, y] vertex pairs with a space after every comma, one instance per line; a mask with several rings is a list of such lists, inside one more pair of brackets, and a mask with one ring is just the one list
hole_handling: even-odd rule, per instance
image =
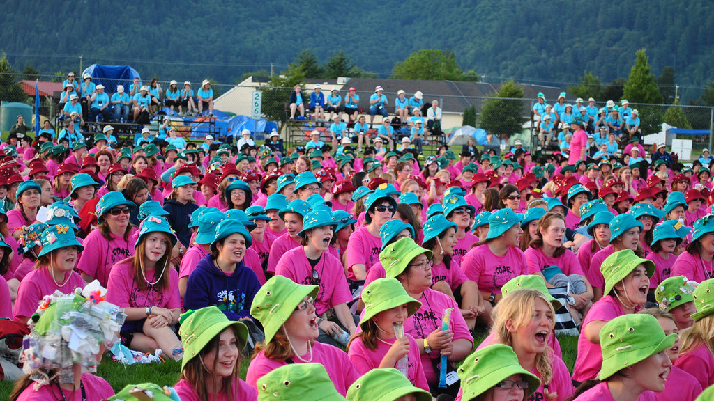
[[[350, 110], [324, 116], [368, 126]], [[391, 133], [286, 148], [162, 126], [124, 147], [111, 126], [0, 145], [0, 324], [24, 336], [1, 365], [11, 400], [694, 400], [714, 384], [708, 154], [689, 167], [616, 141], [595, 158], [578, 139], [426, 156]], [[579, 333], [572, 374], [556, 313]], [[93, 372], [121, 347], [180, 360], [175, 385], [114, 395]]]

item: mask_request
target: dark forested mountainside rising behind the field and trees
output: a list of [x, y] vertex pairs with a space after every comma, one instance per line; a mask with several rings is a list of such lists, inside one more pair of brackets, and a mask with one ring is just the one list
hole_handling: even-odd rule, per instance
[[[698, 96], [714, 73], [710, 0], [1, 1], [0, 51], [43, 73], [131, 64], [144, 76], [235, 82], [343, 51], [386, 77], [418, 49], [452, 49], [465, 70], [565, 87], [583, 71], [627, 77], [637, 49]], [[418, 6], [415, 6], [418, 4]], [[709, 68], [707, 68], [709, 67]]]

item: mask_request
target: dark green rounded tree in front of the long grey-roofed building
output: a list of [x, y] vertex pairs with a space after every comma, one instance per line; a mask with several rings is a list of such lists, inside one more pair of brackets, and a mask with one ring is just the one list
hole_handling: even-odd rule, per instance
[[501, 89], [483, 103], [481, 108], [481, 123], [479, 126], [488, 133], [498, 135], [523, 131], [523, 101], [514, 100], [523, 98], [523, 87], [513, 80], [503, 83]]

